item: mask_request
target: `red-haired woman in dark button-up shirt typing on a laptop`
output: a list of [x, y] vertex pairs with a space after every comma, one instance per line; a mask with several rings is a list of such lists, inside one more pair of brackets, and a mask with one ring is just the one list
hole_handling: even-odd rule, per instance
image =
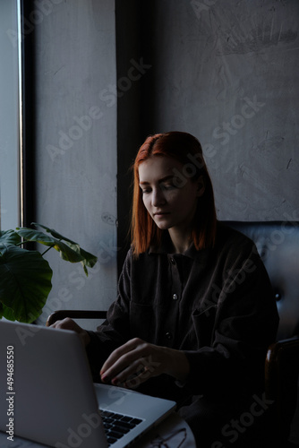
[[81, 334], [98, 381], [175, 400], [199, 446], [253, 446], [266, 412], [254, 425], [238, 418], [262, 397], [278, 328], [260, 256], [218, 222], [191, 134], [149, 136], [133, 173], [132, 246], [107, 321], [98, 332], [55, 326]]

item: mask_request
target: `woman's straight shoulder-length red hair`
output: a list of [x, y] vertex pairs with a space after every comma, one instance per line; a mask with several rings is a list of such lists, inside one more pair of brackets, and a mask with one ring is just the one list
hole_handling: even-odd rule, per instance
[[[192, 225], [192, 241], [197, 250], [214, 246], [216, 239], [217, 217], [213, 186], [208, 168], [202, 156], [201, 143], [191, 134], [171, 132], [150, 135], [141, 145], [132, 165], [133, 199], [132, 199], [132, 250], [139, 255], [151, 245], [160, 243], [162, 232], [146, 210], [139, 185], [139, 166], [153, 156], [165, 156], [178, 160], [183, 165], [185, 177], [196, 181], [202, 176], [204, 193], [198, 200], [197, 211]], [[182, 179], [181, 179], [182, 180]]]

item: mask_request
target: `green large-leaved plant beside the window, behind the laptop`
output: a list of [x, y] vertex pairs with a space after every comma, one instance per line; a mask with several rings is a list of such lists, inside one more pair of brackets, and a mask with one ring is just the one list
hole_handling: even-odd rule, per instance
[[[34, 322], [42, 313], [52, 289], [53, 271], [44, 258], [51, 248], [71, 263], [81, 263], [85, 274], [97, 263], [97, 257], [83, 250], [78, 243], [63, 237], [56, 230], [32, 222], [34, 228], [0, 231], [0, 319]], [[47, 246], [40, 254], [25, 249], [34, 242]]]

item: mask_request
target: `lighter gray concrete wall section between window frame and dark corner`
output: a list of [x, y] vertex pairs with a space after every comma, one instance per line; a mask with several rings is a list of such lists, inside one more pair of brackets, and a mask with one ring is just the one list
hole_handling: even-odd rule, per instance
[[[115, 299], [116, 101], [115, 2], [55, 2], [35, 23], [37, 222], [98, 256], [85, 277], [53, 249], [53, 309], [107, 309]], [[54, 251], [56, 252], [56, 251]], [[94, 328], [94, 323], [82, 323]]]

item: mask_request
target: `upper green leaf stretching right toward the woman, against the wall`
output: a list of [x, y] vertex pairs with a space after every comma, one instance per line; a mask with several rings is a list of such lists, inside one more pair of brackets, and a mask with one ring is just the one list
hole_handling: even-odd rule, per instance
[[[86, 275], [88, 275], [86, 266], [92, 268], [97, 263], [98, 258], [95, 255], [90, 254], [89, 252], [82, 249], [78, 243], [75, 243], [73, 240], [60, 235], [53, 228], [47, 228], [46, 226], [37, 224], [35, 222], [32, 222], [32, 224], [34, 226], [45, 228], [47, 233], [49, 233], [51, 236], [32, 228], [17, 228], [16, 231], [20, 235], [20, 237], [24, 238], [27, 241], [36, 241], [45, 246], [54, 247], [58, 252], [60, 252], [60, 256], [68, 262], [81, 262]], [[65, 243], [62, 240], [64, 240]]]

